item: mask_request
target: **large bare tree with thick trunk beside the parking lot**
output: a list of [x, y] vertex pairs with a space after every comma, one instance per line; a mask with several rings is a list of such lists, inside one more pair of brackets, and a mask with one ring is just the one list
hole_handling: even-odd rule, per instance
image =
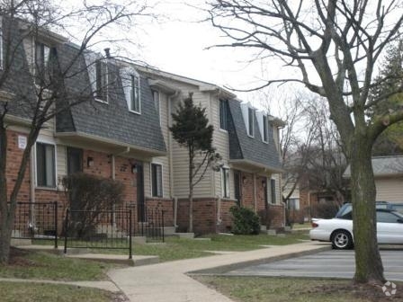
[[[399, 0], [216, 0], [210, 22], [228, 42], [221, 47], [259, 50], [259, 58], [280, 58], [297, 67], [300, 76], [269, 79], [273, 83], [303, 84], [328, 102], [351, 162], [354, 204], [356, 282], [382, 283], [383, 265], [376, 240], [375, 183], [372, 144], [403, 111], [369, 117], [367, 111], [388, 96], [402, 92], [399, 84], [385, 95], [369, 99], [374, 67], [392, 40], [399, 39], [403, 22]], [[255, 87], [257, 88], [257, 87]]]

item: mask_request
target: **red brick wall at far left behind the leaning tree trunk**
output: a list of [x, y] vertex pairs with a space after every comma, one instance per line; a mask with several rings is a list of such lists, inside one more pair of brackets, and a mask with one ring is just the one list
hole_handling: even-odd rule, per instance
[[[18, 170], [22, 161], [23, 150], [18, 147], [18, 136], [27, 137], [26, 134], [15, 132], [12, 130], [7, 131], [7, 166], [6, 166], [6, 178], [7, 178], [7, 196], [10, 197], [13, 187], [17, 180]], [[30, 168], [31, 161], [28, 162], [25, 170], [25, 176], [22, 182], [21, 189], [18, 193], [17, 200], [27, 202], [31, 200], [31, 178]]]

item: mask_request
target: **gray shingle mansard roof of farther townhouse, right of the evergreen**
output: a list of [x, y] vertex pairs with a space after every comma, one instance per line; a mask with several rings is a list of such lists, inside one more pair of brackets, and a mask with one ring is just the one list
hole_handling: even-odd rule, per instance
[[243, 159], [264, 165], [269, 169], [281, 170], [282, 165], [273, 138], [273, 126], [269, 123], [269, 137], [266, 144], [262, 141], [256, 116], [255, 137], [251, 138], [246, 133], [240, 102], [228, 100], [228, 109], [229, 158]]

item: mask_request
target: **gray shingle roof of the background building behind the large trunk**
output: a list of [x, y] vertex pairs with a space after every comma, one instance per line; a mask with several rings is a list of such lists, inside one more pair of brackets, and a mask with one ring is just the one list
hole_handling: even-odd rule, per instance
[[[393, 176], [403, 174], [403, 156], [372, 157], [372, 170], [375, 176]], [[343, 174], [345, 178], [351, 177], [350, 165]]]

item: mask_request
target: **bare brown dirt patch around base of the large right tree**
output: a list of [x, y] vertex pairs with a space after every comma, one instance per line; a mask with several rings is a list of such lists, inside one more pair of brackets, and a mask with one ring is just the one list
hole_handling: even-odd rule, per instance
[[385, 292], [380, 285], [369, 284], [344, 284], [344, 285], [322, 285], [314, 289], [309, 289], [305, 293], [325, 293], [325, 294], [339, 294], [343, 297], [345, 294], [353, 294], [355, 298], [361, 298], [365, 301], [371, 302], [400, 302], [403, 301], [403, 283], [396, 284], [396, 291], [392, 292], [392, 286], [385, 288], [386, 292], [390, 293], [390, 297], [385, 295]]

